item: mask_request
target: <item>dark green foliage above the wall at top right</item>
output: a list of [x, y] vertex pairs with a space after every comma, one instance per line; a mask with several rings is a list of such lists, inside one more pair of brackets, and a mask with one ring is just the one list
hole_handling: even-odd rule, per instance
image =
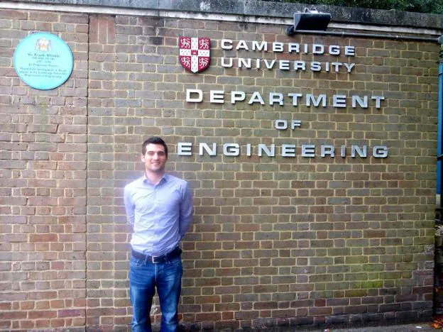
[[285, 0], [285, 2], [443, 14], [442, 0]]

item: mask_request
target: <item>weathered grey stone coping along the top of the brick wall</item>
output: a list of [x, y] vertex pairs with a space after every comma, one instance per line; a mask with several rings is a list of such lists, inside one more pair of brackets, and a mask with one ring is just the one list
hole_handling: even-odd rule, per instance
[[[187, 11], [194, 13], [224, 13], [239, 16], [267, 16], [291, 18], [303, 11], [306, 4], [288, 4], [256, 0], [12, 0], [20, 3], [65, 4], [82, 6], [106, 6], [121, 9], [144, 9], [158, 11]], [[337, 23], [360, 23], [383, 26], [408, 26], [434, 28], [443, 31], [443, 15], [385, 11], [338, 6], [316, 6], [318, 11], [331, 13]], [[244, 20], [239, 20], [244, 21]]]

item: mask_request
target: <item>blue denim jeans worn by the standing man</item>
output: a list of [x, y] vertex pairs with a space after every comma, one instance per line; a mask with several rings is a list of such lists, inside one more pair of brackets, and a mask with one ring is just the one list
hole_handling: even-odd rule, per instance
[[129, 292], [133, 307], [132, 331], [151, 332], [152, 300], [157, 287], [162, 312], [160, 332], [178, 331], [177, 306], [182, 288], [182, 260], [144, 262], [131, 257]]

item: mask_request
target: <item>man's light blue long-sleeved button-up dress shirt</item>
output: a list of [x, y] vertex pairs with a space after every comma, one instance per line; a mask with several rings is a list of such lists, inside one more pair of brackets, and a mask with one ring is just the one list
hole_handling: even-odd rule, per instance
[[127, 184], [124, 204], [128, 223], [133, 226], [131, 246], [146, 255], [163, 255], [185, 236], [192, 219], [189, 184], [165, 174], [158, 184], [146, 175]]

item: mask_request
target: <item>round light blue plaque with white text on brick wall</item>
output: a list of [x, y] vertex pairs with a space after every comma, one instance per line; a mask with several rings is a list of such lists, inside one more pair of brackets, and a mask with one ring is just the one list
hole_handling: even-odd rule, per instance
[[23, 82], [39, 90], [60, 87], [74, 67], [74, 57], [64, 40], [52, 33], [33, 33], [21, 40], [13, 66]]

